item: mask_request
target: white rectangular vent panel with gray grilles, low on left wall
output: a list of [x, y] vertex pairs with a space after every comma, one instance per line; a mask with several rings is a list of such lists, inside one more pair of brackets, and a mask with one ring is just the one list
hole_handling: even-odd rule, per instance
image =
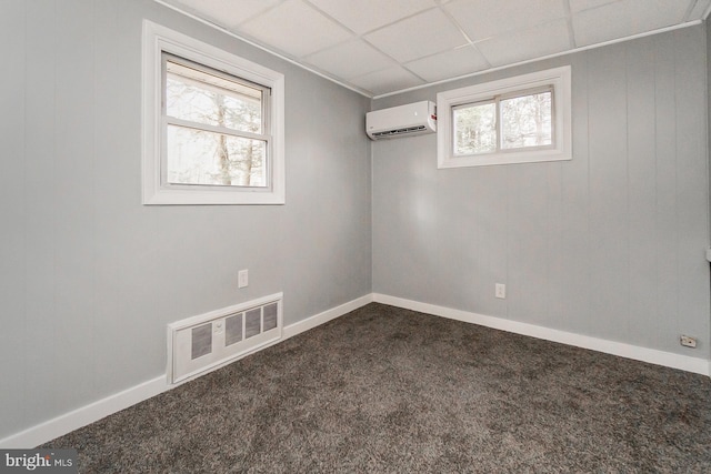
[[182, 382], [281, 339], [281, 293], [168, 325], [168, 381]]

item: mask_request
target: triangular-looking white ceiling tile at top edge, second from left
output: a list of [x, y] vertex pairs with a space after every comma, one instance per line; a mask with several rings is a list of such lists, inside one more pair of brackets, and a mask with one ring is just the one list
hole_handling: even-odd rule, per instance
[[435, 6], [433, 0], [309, 1], [358, 34], [363, 34]]

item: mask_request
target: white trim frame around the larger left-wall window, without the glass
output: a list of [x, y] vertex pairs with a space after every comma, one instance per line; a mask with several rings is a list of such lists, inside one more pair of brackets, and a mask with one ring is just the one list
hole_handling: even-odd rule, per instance
[[[163, 123], [162, 52], [189, 59], [271, 89], [270, 178], [268, 188], [170, 186], [161, 182]], [[143, 204], [283, 204], [284, 192], [284, 77], [263, 65], [143, 20]]]

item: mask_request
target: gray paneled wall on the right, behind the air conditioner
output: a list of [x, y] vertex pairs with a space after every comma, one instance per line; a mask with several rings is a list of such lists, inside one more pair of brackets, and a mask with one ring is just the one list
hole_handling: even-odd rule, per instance
[[433, 134], [373, 144], [373, 291], [709, 357], [705, 41], [698, 26], [374, 101], [572, 67], [572, 161], [437, 170]]

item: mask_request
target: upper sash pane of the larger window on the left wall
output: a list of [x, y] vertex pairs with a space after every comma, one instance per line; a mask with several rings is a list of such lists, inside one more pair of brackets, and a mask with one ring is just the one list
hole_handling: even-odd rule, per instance
[[172, 61], [166, 63], [166, 113], [242, 132], [262, 131], [262, 90]]

